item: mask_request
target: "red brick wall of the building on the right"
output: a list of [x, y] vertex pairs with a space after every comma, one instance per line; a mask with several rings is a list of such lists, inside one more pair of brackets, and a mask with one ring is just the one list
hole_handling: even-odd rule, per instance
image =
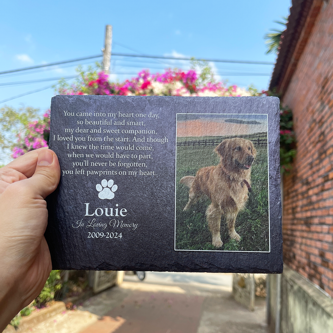
[[297, 137], [283, 179], [283, 255], [333, 297], [333, 0], [324, 2], [284, 94]]

